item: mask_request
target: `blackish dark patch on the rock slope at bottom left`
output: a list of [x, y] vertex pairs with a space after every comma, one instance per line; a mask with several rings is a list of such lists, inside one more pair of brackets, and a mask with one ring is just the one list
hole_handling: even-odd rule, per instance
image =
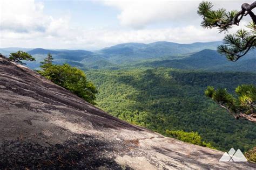
[[105, 156], [116, 152], [113, 144], [84, 134], [49, 146], [21, 139], [5, 140], [0, 145], [0, 169], [122, 169], [114, 157]]

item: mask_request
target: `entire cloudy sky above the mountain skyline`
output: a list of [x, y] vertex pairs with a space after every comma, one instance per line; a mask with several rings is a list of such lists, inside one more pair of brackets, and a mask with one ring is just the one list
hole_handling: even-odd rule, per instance
[[[211, 2], [214, 9], [240, 10], [245, 0]], [[188, 44], [223, 39], [224, 33], [200, 26], [199, 3], [198, 0], [1, 0], [0, 48], [97, 50], [126, 42]], [[230, 33], [246, 22], [248, 19]]]

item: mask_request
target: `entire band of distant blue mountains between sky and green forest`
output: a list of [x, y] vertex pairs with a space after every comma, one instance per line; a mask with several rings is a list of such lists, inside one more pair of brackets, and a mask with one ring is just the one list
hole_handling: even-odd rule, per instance
[[231, 62], [214, 50], [220, 44], [221, 41], [195, 42], [192, 44], [160, 41], [150, 44], [118, 44], [96, 52], [68, 49], [0, 48], [0, 53], [9, 55], [9, 53], [18, 50], [26, 51], [36, 58], [36, 62], [26, 62], [28, 67], [33, 69], [39, 68], [40, 62], [48, 53], [51, 53], [55, 59], [54, 63], [69, 63], [81, 69], [118, 69], [124, 65], [129, 65], [131, 67], [256, 72], [255, 51], [249, 52], [237, 62]]

